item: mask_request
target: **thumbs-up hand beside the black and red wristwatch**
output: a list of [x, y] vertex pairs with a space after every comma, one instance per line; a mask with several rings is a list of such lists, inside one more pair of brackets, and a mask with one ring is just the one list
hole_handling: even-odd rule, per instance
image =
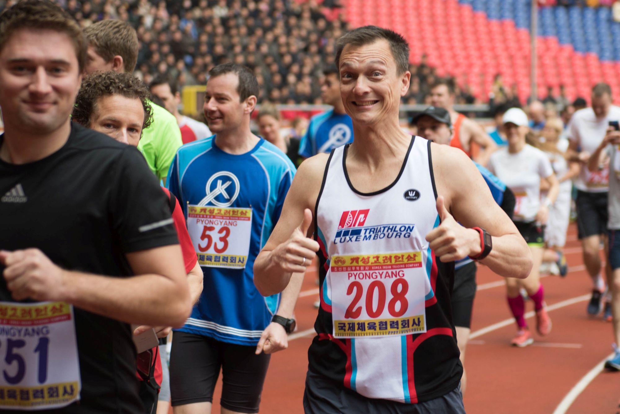
[[437, 213], [441, 224], [428, 232], [426, 239], [441, 262], [454, 262], [467, 256], [476, 256], [480, 250], [480, 233], [467, 229], [454, 220], [446, 209], [443, 196], [437, 197]]

